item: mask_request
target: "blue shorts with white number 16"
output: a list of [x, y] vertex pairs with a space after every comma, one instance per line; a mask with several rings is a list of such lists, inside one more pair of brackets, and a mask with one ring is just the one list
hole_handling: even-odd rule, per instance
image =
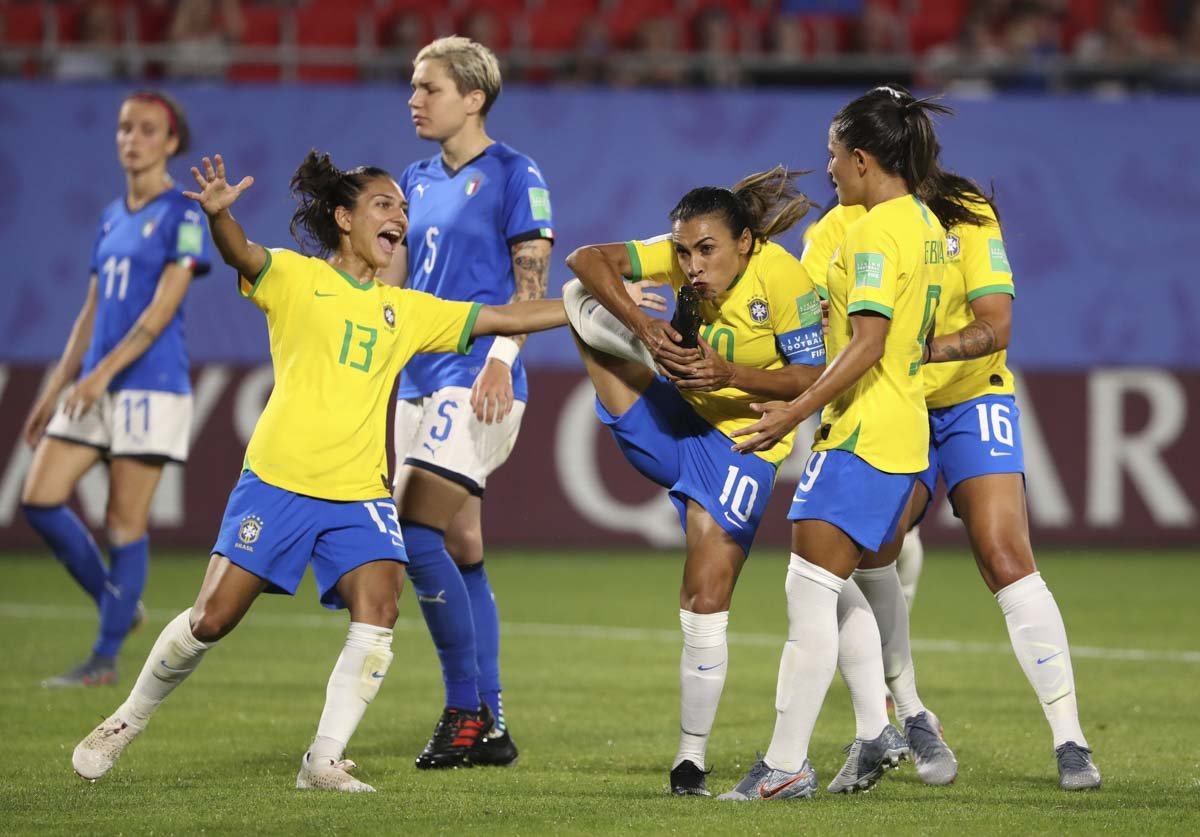
[[934, 496], [938, 474], [946, 481], [947, 495], [972, 477], [1025, 474], [1020, 417], [1013, 396], [982, 396], [930, 410], [929, 468], [918, 477], [929, 496]]

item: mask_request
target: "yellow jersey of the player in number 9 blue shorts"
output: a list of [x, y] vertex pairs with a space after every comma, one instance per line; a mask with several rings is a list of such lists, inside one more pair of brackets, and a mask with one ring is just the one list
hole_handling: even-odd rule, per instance
[[946, 231], [914, 195], [872, 207], [846, 228], [829, 263], [829, 361], [850, 343], [851, 315], [892, 320], [883, 357], [821, 413], [815, 451], [842, 450], [889, 474], [929, 465], [920, 355], [941, 293]]

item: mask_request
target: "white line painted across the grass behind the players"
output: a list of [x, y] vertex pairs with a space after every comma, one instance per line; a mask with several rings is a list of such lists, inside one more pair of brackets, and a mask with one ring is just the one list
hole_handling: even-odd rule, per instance
[[[178, 610], [149, 610], [155, 621], [168, 621], [178, 615]], [[95, 621], [96, 608], [62, 604], [30, 604], [23, 602], [0, 602], [0, 619], [42, 619], [53, 621]], [[331, 614], [282, 614], [251, 613], [246, 616], [250, 627], [287, 627], [287, 628], [329, 628], [346, 630], [346, 620]], [[398, 619], [396, 631], [402, 633], [425, 633], [424, 620]], [[554, 625], [550, 622], [504, 622], [503, 631], [510, 637], [546, 637], [551, 639], [610, 639], [634, 643], [678, 643], [678, 631], [656, 628], [616, 627], [607, 625]], [[734, 645], [782, 646], [784, 636], [769, 633], [730, 633], [728, 639]], [[914, 651], [932, 654], [967, 655], [1012, 655], [1013, 649], [1007, 643], [970, 643], [956, 639], [913, 639]], [[1072, 646], [1073, 657], [1087, 660], [1115, 660], [1151, 663], [1198, 663], [1200, 651], [1166, 651], [1140, 648], [1093, 648], [1088, 645]]]

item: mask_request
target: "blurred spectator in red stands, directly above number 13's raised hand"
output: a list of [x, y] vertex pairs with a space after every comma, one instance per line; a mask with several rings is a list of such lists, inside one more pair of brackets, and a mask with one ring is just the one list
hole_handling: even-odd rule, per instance
[[223, 77], [244, 30], [239, 0], [179, 0], [167, 36], [173, 47], [167, 74], [174, 78]]

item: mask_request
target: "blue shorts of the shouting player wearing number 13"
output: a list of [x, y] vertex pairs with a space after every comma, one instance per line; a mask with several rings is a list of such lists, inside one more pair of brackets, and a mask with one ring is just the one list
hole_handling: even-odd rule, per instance
[[320, 603], [337, 610], [338, 579], [371, 561], [408, 562], [391, 498], [338, 502], [270, 486], [245, 470], [229, 495], [212, 552], [294, 596], [312, 564]]

